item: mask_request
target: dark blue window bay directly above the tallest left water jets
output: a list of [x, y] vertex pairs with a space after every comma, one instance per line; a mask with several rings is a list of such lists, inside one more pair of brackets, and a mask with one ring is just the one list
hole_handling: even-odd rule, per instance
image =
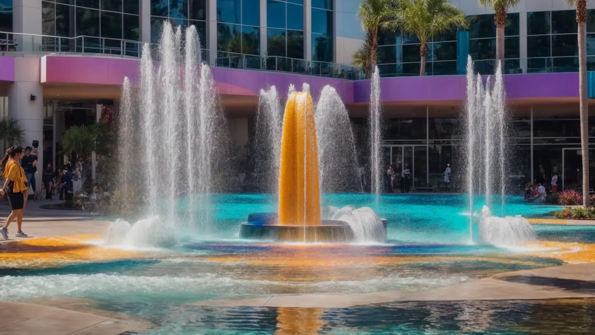
[[151, 42], [159, 40], [161, 26], [166, 20], [174, 26], [195, 26], [201, 46], [205, 48], [206, 0], [151, 0]]

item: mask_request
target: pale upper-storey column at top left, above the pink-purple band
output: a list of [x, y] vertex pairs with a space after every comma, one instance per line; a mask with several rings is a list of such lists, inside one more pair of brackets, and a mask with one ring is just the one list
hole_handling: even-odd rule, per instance
[[[41, 35], [41, 1], [14, 0], [12, 2], [12, 31]], [[17, 51], [40, 51], [41, 36], [14, 35]]]

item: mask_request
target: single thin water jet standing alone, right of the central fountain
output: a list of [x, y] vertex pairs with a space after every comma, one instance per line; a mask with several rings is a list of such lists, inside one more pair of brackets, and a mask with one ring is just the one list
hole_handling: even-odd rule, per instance
[[380, 72], [378, 67], [372, 73], [369, 104], [369, 132], [370, 132], [370, 171], [372, 193], [377, 196], [382, 191], [382, 172], [381, 166], [381, 126], [380, 126]]

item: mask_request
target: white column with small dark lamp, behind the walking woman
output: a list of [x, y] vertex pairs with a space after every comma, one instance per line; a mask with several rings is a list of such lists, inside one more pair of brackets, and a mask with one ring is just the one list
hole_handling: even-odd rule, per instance
[[8, 87], [8, 117], [24, 130], [23, 147], [39, 141], [36, 190], [41, 191], [43, 173], [43, 86], [39, 83], [39, 58], [14, 59], [15, 82]]

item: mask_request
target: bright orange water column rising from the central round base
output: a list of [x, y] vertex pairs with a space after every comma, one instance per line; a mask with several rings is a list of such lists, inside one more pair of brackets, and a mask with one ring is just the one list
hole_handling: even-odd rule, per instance
[[308, 92], [287, 98], [281, 136], [279, 224], [320, 225], [314, 105]]

